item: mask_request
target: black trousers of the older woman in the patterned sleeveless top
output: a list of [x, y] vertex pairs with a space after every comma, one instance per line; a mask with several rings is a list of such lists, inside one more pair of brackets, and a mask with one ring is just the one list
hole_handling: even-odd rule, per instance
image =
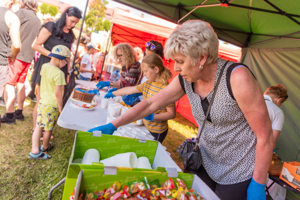
[[221, 200], [247, 200], [247, 189], [251, 182], [251, 178], [241, 183], [221, 185], [209, 177], [203, 166], [201, 166], [197, 172], [191, 173], [199, 176], [199, 178], [201, 178]]

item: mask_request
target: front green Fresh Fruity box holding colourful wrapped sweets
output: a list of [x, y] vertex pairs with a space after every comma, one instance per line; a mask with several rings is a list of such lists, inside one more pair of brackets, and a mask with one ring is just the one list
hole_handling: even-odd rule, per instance
[[[197, 191], [205, 199], [220, 200], [197, 175], [180, 172], [176, 176], [173, 175], [167, 172], [119, 170], [113, 166], [107, 166], [104, 169], [83, 169], [76, 179], [74, 199], [78, 199], [81, 193], [85, 196], [87, 190], [99, 191], [109, 188], [115, 181], [123, 183], [123, 188], [124, 185], [128, 185], [130, 182], [141, 181], [144, 177], [147, 177], [149, 183], [158, 179], [160, 184], [172, 177], [175, 184], [177, 182], [176, 178], [180, 178], [184, 180], [188, 188]], [[63, 199], [69, 200], [72, 192], [64, 193]]]

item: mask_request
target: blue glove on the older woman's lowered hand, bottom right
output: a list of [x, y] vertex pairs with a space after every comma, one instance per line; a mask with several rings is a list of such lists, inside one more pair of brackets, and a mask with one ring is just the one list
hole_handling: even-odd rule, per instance
[[247, 200], [265, 200], [265, 184], [259, 184], [252, 178], [248, 190], [247, 190]]

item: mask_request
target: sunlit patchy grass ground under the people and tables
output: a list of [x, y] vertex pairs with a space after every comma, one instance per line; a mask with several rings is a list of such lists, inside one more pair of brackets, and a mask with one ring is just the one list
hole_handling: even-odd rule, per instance
[[[52, 139], [54, 149], [49, 160], [29, 160], [31, 151], [32, 111], [34, 103], [23, 109], [25, 121], [16, 125], [1, 124], [0, 128], [0, 199], [47, 199], [49, 190], [67, 174], [75, 130], [55, 126]], [[3, 116], [5, 107], [0, 107]], [[197, 127], [177, 113], [169, 120], [169, 132], [163, 145], [183, 169], [177, 147], [189, 137], [196, 136]], [[54, 190], [52, 199], [61, 199], [63, 186]]]

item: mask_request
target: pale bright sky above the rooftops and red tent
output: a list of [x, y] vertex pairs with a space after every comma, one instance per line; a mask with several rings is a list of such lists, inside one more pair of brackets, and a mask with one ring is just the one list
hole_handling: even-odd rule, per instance
[[[71, 6], [76, 6], [80, 10], [82, 10], [82, 12], [85, 9], [85, 4], [86, 4], [85, 0], [60, 0], [60, 1], [68, 3]], [[128, 9], [128, 10], [130, 10], [130, 13], [138, 15], [138, 16], [141, 16], [141, 14], [143, 13], [143, 12], [141, 12], [139, 10], [136, 10], [136, 9], [128, 7], [128, 6], [125, 6], [123, 4], [117, 3], [117, 2], [112, 1], [112, 0], [108, 0], [108, 4], [106, 5], [106, 7], [109, 7], [109, 8], [120, 7], [120, 8], [123, 8], [123, 9]], [[151, 16], [151, 15], [149, 15], [147, 13], [143, 13], [143, 14], [144, 14], [144, 17]]]

